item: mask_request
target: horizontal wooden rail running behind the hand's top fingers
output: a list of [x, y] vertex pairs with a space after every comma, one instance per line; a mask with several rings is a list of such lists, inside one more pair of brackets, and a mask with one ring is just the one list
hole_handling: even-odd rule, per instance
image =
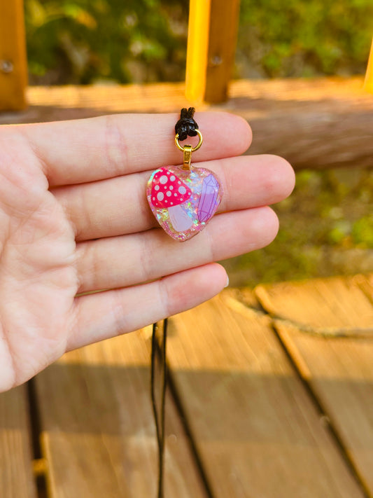
[[[283, 155], [296, 169], [372, 167], [373, 99], [363, 78], [237, 81], [224, 110], [253, 128], [250, 154]], [[0, 123], [36, 123], [119, 112], [180, 112], [188, 106], [181, 83], [29, 88], [30, 108], [0, 115]], [[295, 139], [296, 131], [296, 139]], [[203, 132], [203, 130], [202, 130]], [[270, 137], [270, 140], [268, 139]]]

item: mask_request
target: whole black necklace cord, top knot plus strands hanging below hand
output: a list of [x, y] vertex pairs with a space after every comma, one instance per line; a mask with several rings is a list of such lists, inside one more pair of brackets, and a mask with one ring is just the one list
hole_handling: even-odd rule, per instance
[[[195, 137], [198, 125], [193, 119], [195, 115], [195, 108], [181, 109], [180, 119], [175, 125], [175, 132], [178, 139], [183, 141], [188, 136]], [[162, 329], [162, 346], [157, 343], [157, 324], [153, 324], [152, 334], [152, 350], [150, 360], [150, 392], [153, 406], [153, 415], [155, 421], [155, 430], [157, 433], [158, 445], [158, 494], [157, 498], [163, 498], [164, 494], [164, 427], [165, 427], [165, 413], [164, 407], [166, 403], [166, 387], [167, 387], [167, 364], [166, 364], [166, 342], [167, 342], [167, 319], [163, 321]], [[161, 400], [160, 410], [157, 409], [157, 401], [155, 400], [155, 357], [157, 351], [160, 352], [160, 366], [161, 366]], [[160, 413], [159, 413], [160, 412]]]

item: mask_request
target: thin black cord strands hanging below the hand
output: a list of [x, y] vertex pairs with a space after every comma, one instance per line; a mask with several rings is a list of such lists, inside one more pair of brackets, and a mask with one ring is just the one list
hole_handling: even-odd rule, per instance
[[[155, 430], [157, 433], [158, 445], [158, 494], [157, 498], [163, 498], [164, 490], [164, 427], [165, 427], [165, 413], [164, 407], [166, 404], [166, 387], [167, 387], [167, 364], [166, 364], [166, 342], [167, 342], [167, 318], [163, 321], [162, 329], [162, 347], [157, 343], [157, 328], [158, 324], [153, 324], [152, 334], [152, 350], [150, 361], [150, 391], [152, 397], [153, 415], [155, 420]], [[155, 400], [155, 356], [157, 350], [160, 350], [160, 367], [161, 367], [161, 390], [160, 393], [160, 408], [157, 408]]]

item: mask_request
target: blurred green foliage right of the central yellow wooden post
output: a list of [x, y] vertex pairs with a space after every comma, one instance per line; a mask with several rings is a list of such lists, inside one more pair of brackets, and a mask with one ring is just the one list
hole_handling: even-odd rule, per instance
[[245, 76], [365, 71], [372, 0], [241, 0], [238, 60]]

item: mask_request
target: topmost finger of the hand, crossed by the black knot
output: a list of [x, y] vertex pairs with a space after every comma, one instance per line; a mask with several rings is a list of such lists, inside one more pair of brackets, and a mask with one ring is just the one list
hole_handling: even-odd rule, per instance
[[[193, 154], [194, 161], [239, 155], [251, 143], [251, 129], [239, 116], [210, 112], [197, 113], [196, 119], [204, 145]], [[15, 131], [27, 137], [50, 186], [56, 186], [181, 162], [174, 144], [177, 120], [176, 114], [118, 114], [22, 125]]]

